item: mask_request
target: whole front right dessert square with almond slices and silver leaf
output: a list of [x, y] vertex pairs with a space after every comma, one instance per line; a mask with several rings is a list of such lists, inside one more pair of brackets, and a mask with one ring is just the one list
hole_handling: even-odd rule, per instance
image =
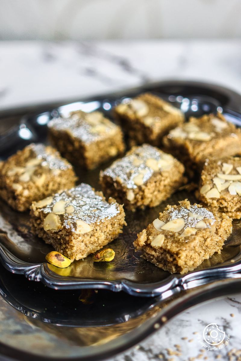
[[226, 214], [214, 216], [200, 204], [186, 199], [168, 205], [137, 236], [136, 250], [143, 258], [170, 273], [187, 273], [213, 253], [220, 253], [232, 232], [232, 219]]

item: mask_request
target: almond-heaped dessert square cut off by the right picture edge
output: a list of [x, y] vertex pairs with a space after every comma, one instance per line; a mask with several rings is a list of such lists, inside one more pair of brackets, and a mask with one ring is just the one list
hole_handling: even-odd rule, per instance
[[241, 158], [207, 160], [196, 197], [214, 214], [241, 218]]

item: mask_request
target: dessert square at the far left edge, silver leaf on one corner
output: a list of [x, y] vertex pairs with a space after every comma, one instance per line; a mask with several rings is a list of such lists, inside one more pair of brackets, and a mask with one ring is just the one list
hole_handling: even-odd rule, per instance
[[72, 165], [56, 149], [30, 144], [0, 165], [0, 196], [24, 212], [33, 201], [73, 187]]

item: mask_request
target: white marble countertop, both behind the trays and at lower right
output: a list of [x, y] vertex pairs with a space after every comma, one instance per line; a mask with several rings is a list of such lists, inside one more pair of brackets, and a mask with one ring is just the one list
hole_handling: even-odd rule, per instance
[[[207, 81], [240, 92], [240, 64], [238, 40], [1, 42], [0, 109], [81, 99], [166, 79]], [[241, 348], [240, 314], [241, 290], [179, 314], [112, 361], [238, 360], [233, 349]], [[231, 335], [220, 351], [208, 351], [198, 340], [210, 323]]]

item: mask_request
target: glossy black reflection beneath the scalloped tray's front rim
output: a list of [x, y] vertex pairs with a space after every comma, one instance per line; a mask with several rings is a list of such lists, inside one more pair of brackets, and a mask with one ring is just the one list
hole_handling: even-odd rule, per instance
[[151, 310], [158, 297], [135, 297], [109, 290], [52, 290], [30, 283], [0, 264], [0, 295], [26, 316], [69, 327], [117, 325]]

